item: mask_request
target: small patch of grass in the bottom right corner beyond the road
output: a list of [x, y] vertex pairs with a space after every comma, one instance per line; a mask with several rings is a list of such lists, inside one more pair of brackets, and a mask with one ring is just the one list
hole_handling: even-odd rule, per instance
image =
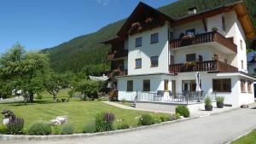
[[233, 141], [231, 144], [256, 144], [256, 130], [242, 136], [240, 139]]

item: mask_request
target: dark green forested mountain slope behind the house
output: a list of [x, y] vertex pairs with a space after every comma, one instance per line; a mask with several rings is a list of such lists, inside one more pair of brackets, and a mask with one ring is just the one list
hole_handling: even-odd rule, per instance
[[[171, 16], [173, 19], [177, 19], [185, 16], [187, 9], [194, 6], [201, 12], [205, 9], [211, 9], [237, 1], [239, 0], [178, 0], [175, 3], [160, 7], [159, 10]], [[244, 0], [244, 2], [247, 6], [247, 12], [253, 21], [253, 26], [256, 28], [256, 1]], [[124, 22], [125, 19], [119, 20], [102, 27], [97, 32], [75, 37], [67, 43], [61, 43], [54, 48], [44, 49], [43, 52], [49, 54], [51, 66], [57, 72], [79, 72], [84, 66], [88, 65], [102, 65], [106, 67], [106, 65], [109, 65], [107, 54], [110, 47], [101, 42], [115, 37]], [[252, 47], [252, 45], [249, 42], [248, 47]]]

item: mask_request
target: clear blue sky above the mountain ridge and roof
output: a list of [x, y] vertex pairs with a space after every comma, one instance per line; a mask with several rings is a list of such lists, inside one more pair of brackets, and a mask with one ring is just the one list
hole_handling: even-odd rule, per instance
[[[143, 0], [154, 8], [174, 0]], [[121, 20], [139, 0], [0, 0], [0, 53], [51, 48]]]

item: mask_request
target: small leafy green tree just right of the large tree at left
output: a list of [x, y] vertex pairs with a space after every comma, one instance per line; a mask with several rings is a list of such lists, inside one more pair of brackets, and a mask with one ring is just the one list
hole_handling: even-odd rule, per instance
[[56, 101], [57, 95], [61, 89], [71, 87], [72, 76], [69, 74], [59, 74], [55, 72], [49, 72], [48, 76], [45, 78], [44, 87], [53, 95], [53, 100]]

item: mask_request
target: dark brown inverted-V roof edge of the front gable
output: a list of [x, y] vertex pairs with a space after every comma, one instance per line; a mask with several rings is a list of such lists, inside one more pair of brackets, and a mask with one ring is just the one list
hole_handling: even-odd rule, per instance
[[175, 21], [170, 16], [161, 13], [159, 10], [154, 9], [143, 2], [140, 2], [138, 3], [137, 7], [133, 10], [131, 15], [128, 17], [128, 19], [125, 21], [125, 24], [120, 28], [117, 35], [119, 37], [125, 36], [127, 34], [126, 32], [130, 29], [131, 24], [134, 22], [137, 22], [137, 20], [142, 16], [142, 14], [145, 14], [146, 11], [154, 14], [158, 14], [161, 17], [163, 17], [165, 20], [169, 20], [170, 22]]

